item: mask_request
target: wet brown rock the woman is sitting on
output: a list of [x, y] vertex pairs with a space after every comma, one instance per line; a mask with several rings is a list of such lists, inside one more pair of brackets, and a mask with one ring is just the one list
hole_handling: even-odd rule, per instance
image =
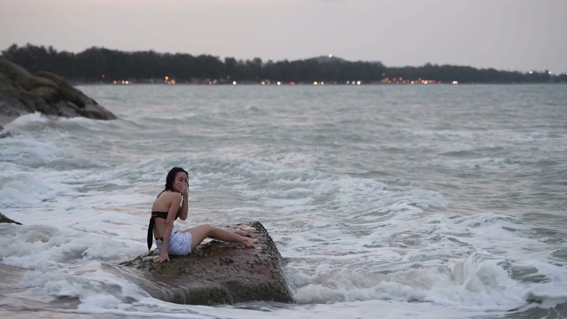
[[179, 304], [215, 305], [246, 301], [292, 302], [282, 256], [260, 222], [227, 229], [250, 229], [253, 248], [211, 240], [189, 256], [154, 263], [157, 252], [120, 263], [115, 270], [152, 297]]

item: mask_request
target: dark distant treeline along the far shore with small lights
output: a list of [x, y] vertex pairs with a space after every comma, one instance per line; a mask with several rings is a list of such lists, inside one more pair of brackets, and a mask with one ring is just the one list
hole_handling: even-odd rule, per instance
[[164, 82], [166, 77], [167, 80], [177, 83], [567, 82], [567, 74], [550, 74], [547, 70], [520, 73], [470, 66], [437, 66], [429, 63], [424, 66], [386, 67], [380, 62], [352, 62], [334, 57], [263, 62], [260, 58], [221, 60], [211, 55], [125, 52], [97, 47], [75, 54], [32, 44], [22, 47], [13, 44], [2, 51], [2, 55], [32, 73], [48, 71], [72, 82]]

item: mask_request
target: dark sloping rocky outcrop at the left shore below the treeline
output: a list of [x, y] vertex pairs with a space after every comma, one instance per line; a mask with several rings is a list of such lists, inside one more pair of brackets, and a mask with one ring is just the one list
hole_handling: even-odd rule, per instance
[[53, 117], [114, 120], [116, 116], [95, 100], [49, 72], [30, 74], [0, 57], [0, 130], [20, 115], [42, 113]]

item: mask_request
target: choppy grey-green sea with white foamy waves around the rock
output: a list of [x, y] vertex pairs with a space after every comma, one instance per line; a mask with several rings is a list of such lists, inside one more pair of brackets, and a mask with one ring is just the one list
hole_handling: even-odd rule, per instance
[[[115, 121], [27, 114], [0, 138], [0, 315], [567, 317], [565, 85], [83, 85]], [[293, 304], [151, 298], [167, 171], [185, 229], [261, 222]]]

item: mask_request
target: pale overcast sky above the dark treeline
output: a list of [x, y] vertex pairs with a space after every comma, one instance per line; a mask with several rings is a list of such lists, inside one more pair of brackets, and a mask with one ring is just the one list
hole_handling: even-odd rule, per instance
[[13, 43], [558, 74], [567, 0], [0, 0], [0, 50]]

